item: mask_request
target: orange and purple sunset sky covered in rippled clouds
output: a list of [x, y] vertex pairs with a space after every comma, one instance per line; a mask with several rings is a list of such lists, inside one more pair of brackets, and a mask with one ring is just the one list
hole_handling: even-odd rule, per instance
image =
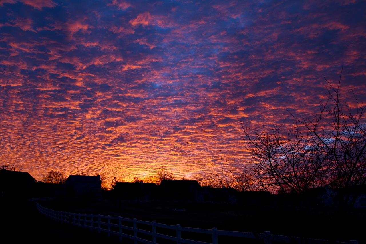
[[317, 114], [342, 66], [342, 99], [366, 101], [366, 1], [304, 2], [0, 0], [1, 165], [127, 181], [250, 166], [240, 121]]

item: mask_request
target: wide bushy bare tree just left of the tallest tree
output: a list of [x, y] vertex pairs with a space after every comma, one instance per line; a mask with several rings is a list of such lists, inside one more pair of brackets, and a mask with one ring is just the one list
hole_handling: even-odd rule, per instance
[[310, 133], [302, 133], [296, 124], [284, 132], [282, 126], [274, 127], [270, 133], [242, 127], [242, 139], [253, 156], [253, 170], [262, 189], [303, 193], [325, 184], [328, 155], [322, 154]]

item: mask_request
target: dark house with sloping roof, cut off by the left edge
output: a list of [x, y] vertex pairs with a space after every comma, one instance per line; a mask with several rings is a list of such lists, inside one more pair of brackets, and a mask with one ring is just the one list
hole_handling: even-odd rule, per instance
[[0, 170], [1, 197], [13, 199], [28, 199], [36, 184], [29, 173], [21, 171]]

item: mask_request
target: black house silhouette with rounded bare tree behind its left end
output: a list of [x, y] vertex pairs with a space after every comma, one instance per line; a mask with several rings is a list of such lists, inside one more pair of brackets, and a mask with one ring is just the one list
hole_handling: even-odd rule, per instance
[[201, 185], [194, 180], [163, 180], [158, 191], [163, 200], [203, 200]]

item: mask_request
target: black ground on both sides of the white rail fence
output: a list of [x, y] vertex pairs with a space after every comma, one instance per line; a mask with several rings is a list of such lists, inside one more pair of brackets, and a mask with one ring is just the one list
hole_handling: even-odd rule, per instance
[[[61, 225], [44, 217], [27, 202], [1, 202], [3, 236], [11, 241], [34, 240], [38, 243], [120, 243], [103, 234], [82, 228]], [[353, 210], [339, 216], [334, 209], [289, 206], [253, 207], [228, 204], [168, 203], [99, 203], [82, 199], [58, 199], [41, 202], [55, 210], [122, 216], [170, 225], [244, 232], [270, 231], [272, 234], [324, 239], [331, 241], [358, 240], [364, 237], [365, 210]]]

